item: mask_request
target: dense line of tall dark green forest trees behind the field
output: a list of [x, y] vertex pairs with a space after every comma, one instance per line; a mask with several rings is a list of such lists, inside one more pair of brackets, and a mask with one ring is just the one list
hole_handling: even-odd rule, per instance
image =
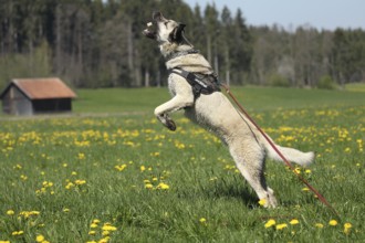
[[365, 80], [365, 32], [249, 25], [227, 7], [182, 0], [0, 0], [0, 88], [14, 77], [59, 76], [74, 87], [166, 85], [156, 43], [142, 31], [154, 10], [233, 84], [330, 88]]

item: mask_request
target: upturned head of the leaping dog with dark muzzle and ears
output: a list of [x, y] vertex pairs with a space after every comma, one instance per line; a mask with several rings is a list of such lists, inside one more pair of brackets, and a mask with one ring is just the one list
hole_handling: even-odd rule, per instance
[[184, 23], [179, 23], [175, 20], [165, 19], [160, 12], [154, 12], [153, 22], [147, 24], [147, 29], [143, 31], [143, 34], [149, 39], [164, 43], [182, 43], [184, 38]]

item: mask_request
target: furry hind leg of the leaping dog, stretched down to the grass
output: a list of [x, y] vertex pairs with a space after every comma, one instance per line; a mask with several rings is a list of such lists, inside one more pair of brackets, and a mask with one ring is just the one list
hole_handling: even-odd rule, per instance
[[242, 144], [238, 148], [231, 147], [230, 154], [236, 161], [237, 168], [240, 170], [244, 179], [253, 188], [259, 199], [264, 202], [267, 208], [275, 208], [277, 199], [273, 196], [273, 190], [267, 186], [263, 175], [264, 170], [264, 150], [258, 145], [243, 151]]

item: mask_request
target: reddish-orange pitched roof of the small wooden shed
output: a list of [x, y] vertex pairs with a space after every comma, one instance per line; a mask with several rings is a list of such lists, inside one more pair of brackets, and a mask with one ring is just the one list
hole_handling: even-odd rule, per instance
[[11, 85], [15, 85], [30, 99], [76, 97], [76, 94], [58, 77], [14, 78], [10, 85], [1, 93], [0, 97], [7, 93]]

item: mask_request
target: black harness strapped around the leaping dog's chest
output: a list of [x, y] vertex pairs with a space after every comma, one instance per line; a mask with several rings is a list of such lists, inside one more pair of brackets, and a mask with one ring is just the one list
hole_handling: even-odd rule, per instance
[[196, 98], [199, 97], [200, 94], [210, 95], [215, 92], [220, 92], [220, 83], [215, 73], [190, 73], [181, 68], [173, 68], [170, 70], [170, 73], [182, 76], [191, 85]]

